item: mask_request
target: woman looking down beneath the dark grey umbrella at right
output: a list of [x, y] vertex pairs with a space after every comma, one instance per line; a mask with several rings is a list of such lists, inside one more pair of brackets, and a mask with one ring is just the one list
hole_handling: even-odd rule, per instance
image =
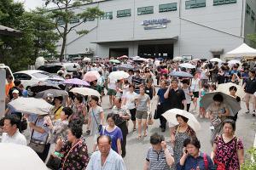
[[208, 107], [207, 115], [212, 123], [211, 143], [213, 144], [216, 135], [222, 130], [221, 122], [223, 122], [227, 116], [230, 116], [230, 110], [228, 106], [224, 104], [224, 98], [221, 94], [215, 94], [212, 99], [213, 103]]

